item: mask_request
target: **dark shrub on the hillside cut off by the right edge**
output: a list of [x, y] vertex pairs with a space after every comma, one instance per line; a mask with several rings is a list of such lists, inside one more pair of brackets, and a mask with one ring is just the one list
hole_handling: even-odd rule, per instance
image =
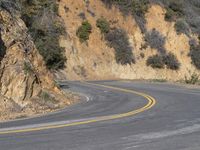
[[200, 69], [200, 45], [193, 45], [190, 48], [190, 56], [192, 59], [192, 63], [195, 65], [197, 69]]

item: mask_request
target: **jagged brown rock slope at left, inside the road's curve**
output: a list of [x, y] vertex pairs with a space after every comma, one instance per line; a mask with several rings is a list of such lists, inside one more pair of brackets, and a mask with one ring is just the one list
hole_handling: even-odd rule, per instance
[[30, 116], [71, 103], [46, 69], [20, 13], [0, 3], [0, 119]]

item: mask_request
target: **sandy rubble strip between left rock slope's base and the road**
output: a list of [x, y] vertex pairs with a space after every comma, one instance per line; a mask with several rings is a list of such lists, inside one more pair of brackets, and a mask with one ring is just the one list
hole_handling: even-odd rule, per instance
[[78, 103], [80, 97], [71, 91], [65, 91], [63, 96], [43, 92], [40, 97], [34, 97], [20, 106], [13, 100], [0, 96], [0, 121], [29, 118], [55, 112]]

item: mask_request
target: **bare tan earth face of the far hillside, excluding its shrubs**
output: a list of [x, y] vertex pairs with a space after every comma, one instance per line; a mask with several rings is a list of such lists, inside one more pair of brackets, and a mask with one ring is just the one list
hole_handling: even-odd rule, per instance
[[[60, 0], [60, 16], [65, 22], [68, 37], [61, 38], [60, 44], [66, 49], [66, 69], [62, 71], [68, 79], [168, 79], [181, 80], [199, 73], [189, 57], [190, 41], [196, 39], [179, 34], [175, 22], [166, 21], [164, 5], [149, 4], [145, 13], [146, 33], [153, 30], [164, 37], [163, 47], [166, 54], [177, 57], [180, 68], [177, 70], [163, 67], [161, 69], [147, 66], [150, 56], [158, 54], [153, 46], [146, 45], [145, 33], [141, 31], [138, 21], [132, 15], [124, 14], [115, 5], [106, 6], [101, 0], [73, 1]], [[96, 21], [104, 17], [110, 23], [111, 29], [120, 28], [126, 31], [136, 63], [121, 65], [115, 60], [115, 50], [110, 48], [104, 35], [96, 26]], [[80, 42], [77, 29], [87, 20], [92, 25], [92, 32], [87, 42]], [[119, 37], [120, 38], [120, 37]], [[159, 41], [159, 38], [156, 39]], [[198, 41], [198, 40], [197, 40]], [[170, 61], [171, 62], [171, 61]], [[168, 63], [170, 63], [168, 62]]]

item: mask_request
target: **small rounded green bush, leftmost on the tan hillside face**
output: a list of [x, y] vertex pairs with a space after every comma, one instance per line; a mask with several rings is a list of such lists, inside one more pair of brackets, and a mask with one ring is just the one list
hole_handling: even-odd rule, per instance
[[78, 28], [76, 35], [79, 37], [80, 42], [86, 42], [87, 40], [89, 40], [91, 32], [91, 24], [88, 21], [84, 21], [82, 22], [82, 25]]

